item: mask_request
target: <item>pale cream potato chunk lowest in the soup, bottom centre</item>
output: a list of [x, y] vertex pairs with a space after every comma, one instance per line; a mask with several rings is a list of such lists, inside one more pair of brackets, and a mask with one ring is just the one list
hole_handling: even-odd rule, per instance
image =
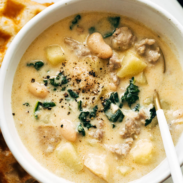
[[100, 178], [107, 180], [109, 177], [109, 165], [106, 163], [106, 156], [89, 154], [84, 165]]

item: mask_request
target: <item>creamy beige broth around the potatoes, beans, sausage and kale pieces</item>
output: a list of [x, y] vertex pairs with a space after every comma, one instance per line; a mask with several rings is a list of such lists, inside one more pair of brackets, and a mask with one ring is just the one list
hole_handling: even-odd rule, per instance
[[[70, 23], [74, 16], [54, 24], [45, 32], [43, 32], [27, 49], [19, 63], [14, 78], [12, 89], [12, 109], [13, 113], [15, 114], [14, 120], [16, 128], [23, 143], [33, 155], [33, 157], [35, 157], [44, 167], [54, 174], [74, 182], [129, 182], [147, 174], [165, 158], [165, 152], [158, 125], [155, 125], [153, 128], [150, 126], [151, 124], [148, 126], [142, 125], [140, 134], [133, 137], [134, 141], [131, 149], [133, 149], [142, 139], [146, 139], [152, 143], [152, 159], [147, 164], [135, 163], [132, 156], [130, 155], [130, 152], [125, 157], [122, 157], [110, 152], [106, 148], [108, 145], [125, 143], [125, 139], [120, 137], [119, 134], [120, 131], [122, 131], [122, 129], [125, 127], [125, 120], [129, 115], [127, 112], [132, 111], [127, 104], [124, 104], [122, 107], [122, 112], [124, 113], [125, 118], [121, 123], [114, 123], [115, 128], [113, 128], [113, 123], [107, 119], [103, 112], [97, 113], [98, 116], [91, 120], [91, 123], [96, 125], [98, 129], [98, 122], [101, 120], [101, 118], [103, 119], [104, 126], [102, 127], [102, 130], [104, 131], [104, 135], [101, 142], [96, 142], [95, 138], [89, 136], [90, 131], [96, 130], [91, 128], [90, 130], [85, 129], [86, 135], [84, 137], [82, 134], [77, 133], [77, 139], [72, 143], [82, 163], [88, 157], [88, 154], [95, 154], [101, 158], [106, 156], [106, 163], [109, 165], [110, 172], [106, 180], [103, 180], [99, 176], [95, 175], [85, 166], [79, 172], [72, 170], [69, 166], [57, 158], [56, 150], [54, 150], [52, 153], [45, 154], [44, 149], [40, 144], [38, 127], [53, 126], [58, 130], [59, 135], [57, 140], [59, 143], [56, 143], [56, 149], [59, 146], [62, 147], [64, 144], [69, 142], [63, 137], [62, 134], [59, 133], [59, 128], [61, 128], [61, 120], [67, 119], [72, 121], [74, 129], [77, 129], [77, 126], [80, 124], [80, 120], [78, 119], [80, 111], [78, 110], [77, 102], [74, 99], [71, 101], [65, 100], [67, 97], [64, 97], [64, 94], [68, 93], [67, 89], [78, 89], [76, 81], [72, 81], [72, 74], [75, 72], [76, 67], [78, 69], [84, 68], [87, 71], [90, 71], [91, 68], [88, 64], [88, 61], [86, 61], [85, 56], [78, 57], [77, 54], [72, 51], [67, 44], [64, 43], [65, 37], [72, 37], [74, 40], [87, 45], [87, 39], [89, 36], [88, 29], [98, 24], [98, 22], [106, 20], [107, 17], [115, 16], [117, 15], [109, 13], [81, 14], [81, 20], [79, 20], [78, 25], [83, 28], [83, 32], [79, 32], [77, 30], [77, 25], [74, 26], [73, 30], [69, 29]], [[140, 89], [140, 100], [137, 103], [139, 103], [140, 106], [145, 106], [144, 100], [152, 97], [154, 89], [158, 89], [160, 98], [169, 104], [169, 108], [168, 110], [165, 110], [165, 112], [167, 114], [167, 121], [170, 124], [173, 140], [176, 143], [183, 130], [183, 125], [172, 124], [172, 120], [175, 118], [172, 115], [173, 111], [182, 109], [182, 101], [180, 98], [183, 97], [183, 93], [181, 92], [183, 89], [183, 80], [181, 79], [183, 73], [181, 66], [173, 51], [167, 46], [167, 44], [158, 35], [153, 33], [144, 25], [141, 25], [138, 22], [126, 17], [121, 17], [119, 27], [121, 26], [127, 26], [131, 28], [133, 34], [137, 37], [136, 42], [144, 38], [155, 39], [157, 45], [164, 53], [166, 58], [166, 72], [164, 74], [162, 56], [157, 62], [152, 64], [148, 63], [145, 57], [138, 56], [143, 62], [147, 63], [144, 74], [147, 78], [148, 84], [140, 85], [135, 83], [135, 85], [137, 85]], [[98, 26], [98, 29], [100, 33], [103, 34], [105, 33], [105, 30], [108, 29], [108, 25], [105, 26], [104, 24], [101, 27]], [[105, 42], [111, 46], [111, 37], [105, 39]], [[51, 65], [48, 62], [45, 54], [45, 48], [49, 45], [60, 45], [64, 50], [66, 62], [60, 63], [56, 66]], [[136, 53], [134, 45], [132, 45], [130, 49], [126, 51], [116, 51], [116, 53], [122, 60], [122, 58], [129, 51]], [[44, 62], [44, 66], [39, 71], [33, 67], [27, 67], [27, 63], [35, 60], [42, 60]], [[103, 67], [101, 72], [99, 72], [98, 76], [94, 78], [97, 79], [97, 83], [101, 83], [100, 87], [105, 86], [105, 88], [107, 88], [105, 94], [103, 94], [104, 96], [102, 95], [104, 98], [109, 97], [110, 93], [113, 92], [113, 90], [110, 88], [110, 83], [112, 83], [112, 80], [109, 77], [110, 71], [108, 70], [108, 60], [109, 59], [102, 61]], [[64, 75], [66, 75], [68, 78], [71, 78], [71, 81], [64, 85], [66, 86], [65, 91], [61, 91], [64, 86], [59, 87], [58, 89], [57, 87], [53, 87], [48, 84], [46, 88], [49, 93], [44, 99], [36, 97], [29, 92], [28, 86], [31, 84], [32, 78], [34, 78], [36, 82], [44, 84], [43, 79], [45, 79], [46, 76], [56, 76], [60, 70], [64, 71]], [[117, 72], [117, 70], [115, 72]], [[127, 86], [129, 85], [130, 78], [131, 77], [120, 79], [120, 84], [116, 90], [119, 96], [124, 94]], [[74, 86], [73, 83], [75, 83]], [[96, 87], [98, 88], [99, 85], [96, 84]], [[54, 88], [57, 88], [56, 91], [54, 91]], [[101, 100], [99, 99], [98, 102], [93, 103], [93, 97], [97, 97], [97, 95], [92, 92], [83, 93], [80, 91], [77, 101], [82, 100], [83, 104], [87, 102], [87, 107], [83, 107], [85, 110], [92, 109], [96, 104], [98, 104], [99, 109], [102, 108]], [[52, 101], [56, 104], [56, 106], [51, 108], [51, 110], [41, 110], [40, 118], [35, 119], [34, 108], [37, 101]], [[26, 102], [28, 102], [30, 106], [23, 105]], [[131, 168], [131, 171], [126, 175], [122, 175], [119, 170], [117, 170], [117, 167], [119, 166], [128, 166]]]

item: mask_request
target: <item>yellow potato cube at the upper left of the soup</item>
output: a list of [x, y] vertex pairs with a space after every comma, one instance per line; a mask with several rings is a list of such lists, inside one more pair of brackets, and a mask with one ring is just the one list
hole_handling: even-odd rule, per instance
[[46, 57], [52, 65], [57, 65], [65, 61], [65, 54], [59, 45], [51, 45], [46, 47]]

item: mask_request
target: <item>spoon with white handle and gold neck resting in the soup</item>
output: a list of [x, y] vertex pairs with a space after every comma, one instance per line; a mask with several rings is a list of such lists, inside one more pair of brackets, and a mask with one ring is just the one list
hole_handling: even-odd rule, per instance
[[172, 141], [172, 137], [167, 125], [167, 121], [163, 110], [161, 109], [161, 104], [159, 100], [158, 92], [154, 92], [154, 104], [156, 108], [156, 115], [158, 118], [159, 128], [161, 131], [161, 137], [163, 139], [163, 144], [168, 159], [172, 179], [174, 183], [183, 183], [183, 176], [180, 169], [180, 164], [177, 159], [177, 154], [175, 152], [175, 147]]

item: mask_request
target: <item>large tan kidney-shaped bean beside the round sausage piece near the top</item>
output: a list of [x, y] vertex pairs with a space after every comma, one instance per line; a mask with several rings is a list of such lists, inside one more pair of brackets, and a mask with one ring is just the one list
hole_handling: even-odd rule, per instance
[[88, 38], [88, 47], [99, 58], [107, 59], [113, 54], [111, 47], [105, 43], [102, 35], [98, 32], [91, 34]]

